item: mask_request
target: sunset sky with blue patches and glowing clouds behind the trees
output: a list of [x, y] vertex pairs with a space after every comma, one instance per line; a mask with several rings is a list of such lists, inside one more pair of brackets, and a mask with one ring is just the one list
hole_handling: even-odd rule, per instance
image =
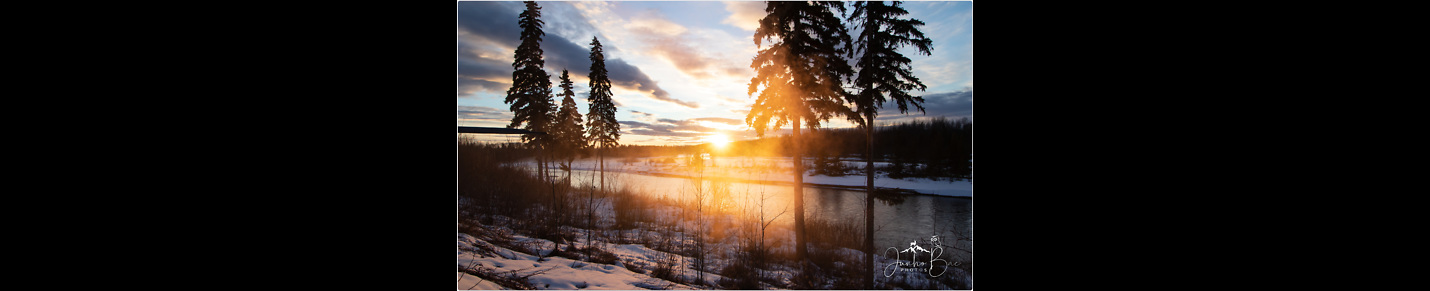
[[[571, 72], [576, 108], [586, 115], [591, 37], [599, 37], [613, 86], [622, 145], [692, 145], [716, 135], [755, 139], [745, 115], [755, 76], [749, 62], [764, 1], [538, 1], [546, 72], [559, 85]], [[852, 11], [852, 3], [847, 3]], [[502, 100], [512, 82], [512, 57], [521, 43], [521, 1], [458, 3], [458, 125], [505, 128], [512, 112]], [[907, 17], [927, 23], [932, 56], [904, 47], [914, 73], [928, 85], [927, 115], [898, 113], [885, 103], [879, 123], [914, 118], [972, 118], [974, 44], [971, 1], [905, 1]], [[857, 36], [851, 32], [851, 36]], [[766, 43], [768, 44], [768, 43]], [[851, 60], [852, 63], [852, 60]], [[847, 85], [848, 86], [848, 85]], [[555, 93], [561, 87], [553, 87]], [[758, 96], [758, 93], [756, 93]], [[561, 103], [561, 97], [553, 97]], [[911, 108], [912, 109], [912, 108]], [[825, 128], [849, 128], [835, 118]], [[786, 126], [788, 129], [788, 126]], [[782, 133], [786, 130], [775, 132]], [[771, 133], [766, 133], [771, 135]], [[483, 140], [519, 142], [519, 136], [483, 135]]]

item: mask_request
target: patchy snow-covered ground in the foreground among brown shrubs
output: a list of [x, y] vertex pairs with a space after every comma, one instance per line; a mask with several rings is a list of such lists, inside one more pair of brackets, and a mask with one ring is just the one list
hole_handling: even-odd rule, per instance
[[[503, 219], [509, 218], [505, 216], [498, 218], [498, 221]], [[685, 224], [692, 224], [692, 222], [694, 221], [685, 221]], [[486, 225], [479, 228], [486, 229], [489, 235], [493, 232], [509, 234], [509, 238], [505, 238], [508, 239], [508, 242], [505, 244], [506, 247], [488, 242], [486, 239], [482, 239], [479, 237], [459, 232], [458, 259], [456, 259], [459, 269], [458, 290], [511, 288], [511, 285], [502, 285], [493, 281], [503, 278], [516, 281], [516, 284], [526, 284], [525, 288], [536, 288], [536, 290], [694, 290], [694, 288], [718, 288], [715, 287], [715, 284], [718, 284], [722, 278], [719, 274], [705, 272], [704, 274], [705, 282], [709, 285], [688, 285], [688, 284], [672, 282], [662, 278], [655, 278], [651, 274], [654, 272], [655, 267], [659, 265], [661, 261], [664, 259], [666, 265], [671, 264], [684, 265], [684, 267], [676, 267], [685, 269], [679, 272], [682, 274], [681, 278], [684, 278], [685, 281], [695, 281], [696, 278], [694, 271], [695, 259], [678, 254], [652, 249], [646, 245], [605, 244], [605, 242], [596, 244], [601, 249], [613, 254], [616, 259], [613, 264], [595, 264], [595, 262], [585, 262], [579, 259], [566, 258], [566, 257], [579, 258], [579, 255], [572, 255], [572, 254], [566, 254], [566, 257], [549, 257], [555, 244], [546, 239], [529, 238], [519, 234], [513, 234], [512, 229], [503, 226]], [[569, 228], [569, 226], [563, 226], [563, 229], [575, 234], [583, 232], [583, 229]], [[622, 232], [619, 231], [608, 231], [606, 235], [611, 235], [611, 232], [616, 232], [615, 237], [622, 235]], [[664, 238], [686, 237], [679, 234], [681, 232], [649, 231], [646, 235], [664, 237]], [[685, 242], [689, 244], [691, 241], [686, 239]], [[775, 242], [774, 238], [771, 238], [771, 242], [779, 245], [772, 248], [772, 251], [775, 252], [785, 252], [785, 254], [794, 252], [791, 244], [779, 244]], [[572, 245], [585, 245], [585, 244], [586, 244], [585, 238], [579, 235], [572, 242]], [[706, 248], [709, 252], [706, 254], [708, 255], [706, 258], [709, 259], [711, 264], [709, 269], [712, 271], [724, 269], [725, 267], [734, 264], [734, 259], [731, 258], [734, 255], [731, 254], [736, 248], [731, 244], [731, 241], [709, 242]], [[862, 261], [864, 258], [864, 252], [857, 249], [839, 248], [835, 249], [834, 252], [838, 254], [838, 257], [842, 257], [839, 262], [835, 262], [839, 265], [845, 262], [858, 262]], [[951, 284], [948, 280], [962, 281], [962, 284], [972, 282], [972, 277], [958, 268], [947, 268], [947, 271], [945, 269], [928, 271], [931, 274], [938, 274], [940, 277], [925, 275], [922, 269], [901, 271], [899, 268], [901, 265], [917, 264], [917, 262], [895, 261], [891, 258], [885, 258], [884, 255], [888, 254], [875, 255], [877, 269], [874, 269], [874, 272], [877, 272], [875, 277], [878, 278], [879, 288], [947, 290], [950, 287], [945, 284]], [[912, 259], [909, 257], [902, 257], [902, 255], [901, 258]], [[947, 257], [941, 255], [941, 258]], [[928, 258], [919, 258], [918, 261], [922, 262], [924, 259]], [[769, 278], [776, 278], [781, 281], [781, 284], [785, 285], [791, 284], [789, 280], [794, 278], [794, 274], [797, 274], [794, 267], [788, 264], [771, 264], [768, 268], [769, 269], [764, 269], [764, 272]], [[470, 272], [486, 274], [486, 277], [473, 275]], [[508, 281], [506, 284], [512, 282]], [[832, 285], [828, 284], [832, 284], [832, 281], [825, 282], [825, 285], [819, 285], [817, 288], [832, 288]], [[759, 287], [766, 290], [778, 288], [775, 285], [769, 285], [768, 282], [759, 282]]]

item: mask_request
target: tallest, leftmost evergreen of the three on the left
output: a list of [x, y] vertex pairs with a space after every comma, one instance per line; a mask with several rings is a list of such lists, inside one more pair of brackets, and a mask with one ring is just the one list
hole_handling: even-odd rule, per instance
[[[541, 30], [545, 22], [541, 20], [541, 6], [536, 1], [526, 1], [526, 10], [519, 16], [518, 24], [522, 27], [522, 44], [516, 47], [516, 59], [512, 62], [512, 87], [506, 89], [506, 103], [512, 105], [512, 123], [506, 128], [518, 128], [532, 132], [551, 132], [555, 119], [556, 105], [551, 99], [551, 75], [546, 75], [546, 60], [542, 59]], [[548, 148], [552, 135], [523, 135], [522, 142], [538, 149]], [[542, 179], [545, 162], [538, 161]]]

